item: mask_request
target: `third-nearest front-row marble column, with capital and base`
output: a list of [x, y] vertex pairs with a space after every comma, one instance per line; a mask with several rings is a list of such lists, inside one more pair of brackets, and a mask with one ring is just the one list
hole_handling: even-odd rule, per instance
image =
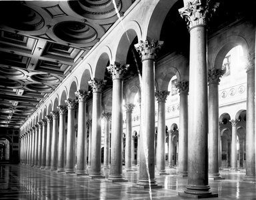
[[[107, 67], [113, 79], [111, 123], [111, 168], [109, 180], [127, 181], [123, 178], [122, 135], [123, 132], [123, 75], [129, 65], [115, 63]], [[131, 161], [131, 159], [130, 159]]]

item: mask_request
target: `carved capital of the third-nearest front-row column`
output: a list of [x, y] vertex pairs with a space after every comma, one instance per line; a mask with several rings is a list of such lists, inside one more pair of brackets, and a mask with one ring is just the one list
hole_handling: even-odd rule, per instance
[[115, 62], [114, 64], [110, 64], [107, 67], [107, 71], [109, 71], [113, 80], [123, 79], [123, 75], [125, 75], [125, 72], [127, 72], [128, 68], [129, 68], [129, 65]]

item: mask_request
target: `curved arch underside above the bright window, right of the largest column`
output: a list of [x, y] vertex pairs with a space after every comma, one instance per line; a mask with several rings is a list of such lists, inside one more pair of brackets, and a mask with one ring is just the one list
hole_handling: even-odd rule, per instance
[[218, 43], [219, 43], [219, 45], [217, 45], [218, 49], [212, 49], [213, 52], [208, 53], [208, 55], [211, 55], [211, 53], [213, 54], [213, 61], [209, 65], [209, 67], [211, 68], [221, 69], [223, 60], [225, 59], [225, 56], [227, 55], [227, 53], [229, 53], [231, 49], [233, 49], [238, 45], [242, 46], [245, 55], [249, 51], [249, 45], [247, 41], [239, 35], [232, 35], [230, 37], [225, 37], [225, 39], [223, 38], [223, 41], [218, 41]]

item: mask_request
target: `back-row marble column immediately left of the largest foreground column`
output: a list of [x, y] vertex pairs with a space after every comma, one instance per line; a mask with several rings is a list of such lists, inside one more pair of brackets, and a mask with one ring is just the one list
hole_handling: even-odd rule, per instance
[[188, 145], [188, 104], [189, 81], [179, 81], [179, 165], [177, 175], [187, 177], [187, 145]]

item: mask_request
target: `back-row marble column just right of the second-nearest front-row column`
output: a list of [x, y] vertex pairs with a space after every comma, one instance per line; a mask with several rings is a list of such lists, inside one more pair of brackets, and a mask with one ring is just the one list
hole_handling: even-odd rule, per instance
[[156, 91], [155, 97], [158, 102], [158, 120], [157, 120], [157, 173], [159, 175], [168, 175], [165, 171], [165, 101], [169, 91]]

